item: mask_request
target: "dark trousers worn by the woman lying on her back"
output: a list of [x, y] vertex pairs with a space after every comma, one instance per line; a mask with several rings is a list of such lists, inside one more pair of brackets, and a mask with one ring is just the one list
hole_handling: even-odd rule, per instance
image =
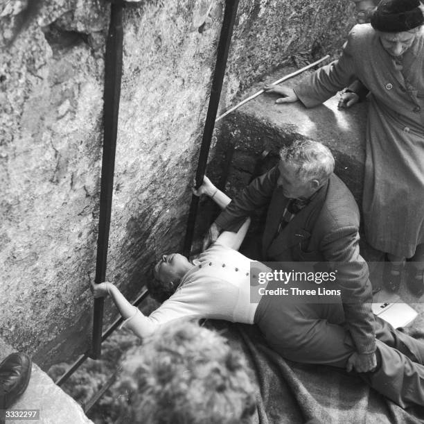
[[[355, 352], [342, 303], [294, 304], [284, 296], [263, 296], [255, 323], [274, 350], [295, 362], [346, 368]], [[424, 342], [378, 316], [375, 330], [378, 368], [361, 377], [401, 407], [424, 406]]]

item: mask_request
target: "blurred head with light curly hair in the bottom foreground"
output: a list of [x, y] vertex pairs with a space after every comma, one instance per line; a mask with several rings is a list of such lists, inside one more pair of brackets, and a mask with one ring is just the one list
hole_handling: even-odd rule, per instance
[[114, 396], [125, 423], [251, 423], [256, 402], [247, 364], [217, 332], [173, 321], [122, 365]]

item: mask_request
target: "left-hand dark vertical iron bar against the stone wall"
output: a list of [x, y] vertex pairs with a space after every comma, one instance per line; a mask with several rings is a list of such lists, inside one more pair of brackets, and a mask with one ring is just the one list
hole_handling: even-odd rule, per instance
[[[114, 185], [116, 134], [118, 132], [119, 98], [121, 95], [123, 49], [123, 0], [112, 1], [109, 33], [105, 53], [105, 91], [103, 96], [103, 159], [100, 182], [100, 216], [98, 219], [96, 284], [105, 281], [107, 245], [109, 242], [112, 192]], [[101, 353], [103, 327], [103, 298], [94, 299], [93, 339], [90, 357], [98, 359]]]

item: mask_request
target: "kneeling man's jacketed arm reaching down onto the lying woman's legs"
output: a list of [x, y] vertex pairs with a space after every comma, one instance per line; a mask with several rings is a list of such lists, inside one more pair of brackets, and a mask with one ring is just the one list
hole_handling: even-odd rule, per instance
[[339, 228], [324, 237], [320, 248], [328, 262], [337, 262], [336, 282], [341, 290], [346, 323], [358, 354], [353, 358], [355, 363], [350, 366], [365, 372], [376, 366], [376, 340], [369, 270], [359, 253], [359, 238], [355, 226]]

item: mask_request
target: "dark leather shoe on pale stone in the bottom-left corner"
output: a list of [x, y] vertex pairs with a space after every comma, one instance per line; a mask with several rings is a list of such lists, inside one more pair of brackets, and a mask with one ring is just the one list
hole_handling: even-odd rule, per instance
[[0, 409], [8, 409], [24, 393], [31, 376], [31, 359], [12, 353], [0, 364]]

